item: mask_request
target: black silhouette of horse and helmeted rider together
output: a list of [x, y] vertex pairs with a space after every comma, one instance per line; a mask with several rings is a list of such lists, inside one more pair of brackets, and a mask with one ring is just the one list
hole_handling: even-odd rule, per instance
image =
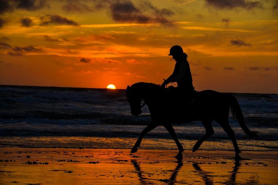
[[[147, 105], [152, 118], [149, 125], [141, 132], [131, 149], [131, 153], [138, 150], [143, 137], [148, 132], [159, 125], [163, 125], [178, 146], [179, 152], [175, 158], [181, 159], [183, 147], [172, 124], [188, 123], [200, 119], [206, 129], [206, 134], [196, 142], [192, 151], [197, 151], [202, 143], [214, 134], [211, 123], [212, 120], [215, 120], [232, 140], [235, 159], [240, 160], [239, 153], [241, 151], [237, 145], [235, 132], [228, 122], [230, 108], [233, 116], [248, 136], [257, 137], [257, 134], [250, 131], [246, 126], [237, 99], [229, 93], [213, 90], [195, 91], [187, 55], [183, 52], [182, 47], [178, 45], [171, 47], [169, 56], [172, 56], [175, 60], [175, 68], [173, 74], [164, 80], [162, 85], [138, 82], [127, 86], [126, 96], [131, 114], [138, 116], [141, 114], [141, 108]], [[176, 82], [178, 86], [165, 88], [167, 84], [173, 82]], [[170, 101], [164, 101], [165, 97], [169, 97]], [[141, 105], [142, 99], [145, 102], [143, 105]]]

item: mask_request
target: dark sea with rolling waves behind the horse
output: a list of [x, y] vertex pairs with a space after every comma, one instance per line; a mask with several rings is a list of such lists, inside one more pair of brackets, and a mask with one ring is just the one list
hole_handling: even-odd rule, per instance
[[[278, 95], [232, 94], [248, 128], [259, 134], [247, 136], [230, 112], [239, 148], [278, 151]], [[0, 85], [0, 147], [131, 149], [150, 121], [147, 106], [131, 115], [125, 89]], [[222, 127], [212, 124], [215, 134], [199, 150], [233, 150]], [[200, 120], [173, 127], [186, 150], [205, 134]], [[177, 149], [163, 126], [149, 132], [140, 148]]]

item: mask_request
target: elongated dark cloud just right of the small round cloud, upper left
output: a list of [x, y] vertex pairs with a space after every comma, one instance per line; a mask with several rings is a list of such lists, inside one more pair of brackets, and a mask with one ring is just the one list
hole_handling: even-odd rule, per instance
[[74, 25], [77, 26], [78, 23], [72, 20], [67, 19], [66, 17], [62, 17], [60, 15], [46, 15], [41, 17], [41, 26], [47, 26], [50, 24], [55, 25]]

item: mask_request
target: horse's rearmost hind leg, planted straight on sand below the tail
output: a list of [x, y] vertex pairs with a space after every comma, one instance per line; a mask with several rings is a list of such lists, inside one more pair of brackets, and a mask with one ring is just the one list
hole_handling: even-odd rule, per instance
[[233, 146], [234, 146], [234, 149], [235, 149], [235, 160], [240, 160], [241, 157], [239, 156], [239, 153], [241, 151], [240, 151], [240, 149], [237, 145], [237, 140], [235, 139], [235, 132], [233, 131], [233, 129], [229, 125], [228, 120], [227, 121], [217, 121], [217, 120], [215, 120], [215, 121], [220, 124], [220, 126], [224, 129], [224, 131], [228, 134], [228, 136], [232, 140], [232, 143], [233, 143]]

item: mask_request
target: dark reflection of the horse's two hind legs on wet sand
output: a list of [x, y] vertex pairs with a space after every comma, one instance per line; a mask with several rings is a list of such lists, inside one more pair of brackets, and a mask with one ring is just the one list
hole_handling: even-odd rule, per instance
[[[239, 170], [240, 164], [238, 160], [235, 161], [235, 166], [233, 167], [233, 171], [231, 174], [231, 177], [229, 178], [228, 181], [224, 182], [223, 184], [236, 184], [235, 179], [236, 179], [236, 174]], [[195, 172], [200, 175], [205, 182], [205, 185], [213, 185], [213, 175], [210, 175], [211, 172], [206, 172], [201, 169], [200, 165], [197, 163], [193, 163], [192, 166], [196, 170]]]

